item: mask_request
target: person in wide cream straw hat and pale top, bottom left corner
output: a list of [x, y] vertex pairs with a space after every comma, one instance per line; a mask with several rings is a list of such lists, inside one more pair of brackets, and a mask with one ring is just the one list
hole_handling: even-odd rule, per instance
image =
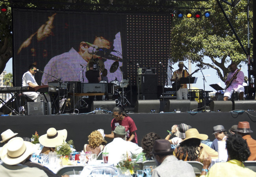
[[25, 160], [35, 151], [31, 142], [20, 137], [9, 140], [0, 151], [1, 177], [47, 177], [45, 171], [24, 165]]

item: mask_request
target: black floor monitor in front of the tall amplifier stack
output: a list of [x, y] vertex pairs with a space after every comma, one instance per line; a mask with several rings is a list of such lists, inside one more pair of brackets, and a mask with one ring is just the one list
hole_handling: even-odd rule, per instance
[[159, 112], [160, 110], [160, 100], [137, 100], [134, 112], [135, 113], [149, 113], [151, 110]]

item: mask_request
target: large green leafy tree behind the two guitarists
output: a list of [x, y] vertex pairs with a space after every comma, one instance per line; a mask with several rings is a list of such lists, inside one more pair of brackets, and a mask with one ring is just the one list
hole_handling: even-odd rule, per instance
[[[190, 6], [197, 7], [196, 4], [198, 2], [191, 2]], [[236, 7], [225, 3], [222, 3], [222, 6], [243, 46], [247, 46], [247, 2], [241, 1]], [[170, 56], [174, 63], [191, 59], [193, 63], [198, 63], [199, 67], [213, 68], [224, 81], [229, 72], [224, 64], [232, 61], [241, 65], [241, 62], [247, 61], [247, 57], [216, 0], [200, 2], [200, 7], [210, 8], [210, 18], [173, 18]], [[196, 9], [192, 10], [193, 13], [196, 11]], [[211, 63], [204, 62], [204, 56], [210, 57]]]

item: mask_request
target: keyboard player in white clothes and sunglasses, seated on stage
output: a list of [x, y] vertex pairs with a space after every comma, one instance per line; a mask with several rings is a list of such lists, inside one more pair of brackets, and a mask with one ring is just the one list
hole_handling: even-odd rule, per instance
[[[35, 81], [35, 73], [37, 72], [37, 66], [36, 65], [30, 65], [28, 66], [28, 71], [25, 72], [22, 76], [22, 87], [30, 86], [30, 87], [37, 87], [38, 84]], [[28, 98], [34, 100], [35, 102], [40, 102], [41, 100], [45, 100], [45, 97], [43, 94], [37, 93], [37, 92], [24, 92], [24, 95], [28, 96]], [[50, 101], [49, 94], [45, 94], [48, 101]]]

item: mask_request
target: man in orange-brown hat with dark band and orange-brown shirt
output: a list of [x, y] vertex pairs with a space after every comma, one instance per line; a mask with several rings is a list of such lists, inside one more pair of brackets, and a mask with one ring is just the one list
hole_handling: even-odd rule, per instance
[[247, 141], [250, 149], [250, 157], [248, 160], [256, 160], [256, 140], [252, 139], [252, 136], [250, 136], [250, 133], [253, 131], [250, 129], [249, 122], [238, 122], [235, 131]]

